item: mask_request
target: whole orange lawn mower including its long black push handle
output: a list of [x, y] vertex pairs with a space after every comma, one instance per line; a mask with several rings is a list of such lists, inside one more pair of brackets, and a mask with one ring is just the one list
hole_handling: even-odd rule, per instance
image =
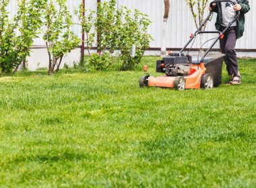
[[[212, 1], [210, 6], [212, 7], [213, 3], [222, 2], [229, 2], [232, 5], [236, 4], [233, 1], [216, 0]], [[156, 72], [164, 73], [164, 75], [160, 77], [152, 77], [148, 75], [148, 73], [146, 73], [148, 68], [145, 65], [143, 71], [145, 71], [146, 75], [141, 77], [139, 80], [139, 87], [167, 87], [178, 90], [200, 88], [212, 89], [213, 87], [218, 87], [222, 83], [222, 62], [225, 55], [221, 53], [210, 54], [210, 51], [216, 42], [220, 40], [220, 38], [224, 38], [224, 33], [226, 30], [228, 30], [228, 28], [230, 28], [234, 21], [237, 21], [240, 12], [236, 11], [236, 16], [223, 32], [203, 31], [202, 28], [205, 26], [207, 21], [211, 21], [212, 14], [213, 12], [210, 11], [207, 18], [203, 21], [201, 26], [199, 26], [198, 30], [194, 34], [191, 34], [189, 42], [187, 42], [179, 53], [170, 53], [169, 56], [156, 62]], [[189, 52], [185, 56], [183, 52], [192, 41], [195, 42], [195, 38], [199, 34], [218, 34], [218, 36], [211, 39], [214, 40], [213, 44], [204, 52], [202, 56], [199, 57], [199, 54], [203, 45], [199, 49], [197, 56], [190, 56]], [[210, 40], [207, 40], [207, 42], [209, 41]], [[193, 44], [191, 45], [191, 48], [192, 46]]]

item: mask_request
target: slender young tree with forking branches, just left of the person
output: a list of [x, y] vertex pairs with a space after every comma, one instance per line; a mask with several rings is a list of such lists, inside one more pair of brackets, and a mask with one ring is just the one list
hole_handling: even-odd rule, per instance
[[[203, 16], [205, 13], [205, 7], [207, 6], [208, 0], [186, 0], [186, 1], [193, 15], [195, 27], [198, 29], [199, 26], [201, 26], [201, 23], [203, 23], [203, 20], [204, 20]], [[205, 27], [206, 27], [206, 24], [202, 28], [203, 31], [205, 30]], [[203, 43], [203, 35], [200, 34], [200, 46], [202, 43]]]

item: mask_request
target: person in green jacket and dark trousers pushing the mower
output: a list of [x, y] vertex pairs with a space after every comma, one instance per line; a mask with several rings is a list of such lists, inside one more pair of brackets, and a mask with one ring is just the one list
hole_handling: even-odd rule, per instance
[[[235, 1], [235, 0], [234, 0]], [[245, 30], [245, 13], [250, 10], [248, 0], [238, 0], [236, 5], [230, 2], [213, 3], [210, 11], [218, 13], [215, 23], [216, 30], [222, 32], [228, 26], [235, 15], [236, 11], [240, 11], [240, 17], [237, 21], [232, 23], [231, 27], [224, 33], [224, 38], [220, 39], [220, 49], [222, 54], [226, 54], [225, 63], [228, 75], [230, 76], [231, 85], [241, 84], [241, 74], [238, 68], [238, 61], [236, 56], [236, 40], [243, 36]]]

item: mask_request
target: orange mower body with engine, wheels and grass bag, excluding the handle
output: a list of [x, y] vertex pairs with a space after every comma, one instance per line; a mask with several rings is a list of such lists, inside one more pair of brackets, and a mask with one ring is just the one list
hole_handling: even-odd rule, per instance
[[[165, 74], [160, 77], [149, 75], [141, 77], [139, 85], [140, 87], [166, 87], [178, 90], [218, 87], [222, 83], [224, 56], [220, 53], [209, 54], [205, 58], [205, 62], [201, 64], [195, 62], [195, 56], [191, 56], [191, 62], [189, 60], [179, 62], [179, 57], [178, 60], [175, 60], [175, 57], [158, 60], [156, 62], [156, 72]], [[170, 66], [170, 64], [172, 65]], [[171, 68], [168, 68], [169, 66]]]

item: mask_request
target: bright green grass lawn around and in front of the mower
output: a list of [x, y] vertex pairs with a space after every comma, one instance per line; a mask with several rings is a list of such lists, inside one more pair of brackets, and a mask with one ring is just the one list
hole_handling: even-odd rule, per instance
[[241, 86], [210, 91], [139, 89], [139, 68], [1, 77], [0, 187], [256, 187], [256, 60], [240, 62]]

